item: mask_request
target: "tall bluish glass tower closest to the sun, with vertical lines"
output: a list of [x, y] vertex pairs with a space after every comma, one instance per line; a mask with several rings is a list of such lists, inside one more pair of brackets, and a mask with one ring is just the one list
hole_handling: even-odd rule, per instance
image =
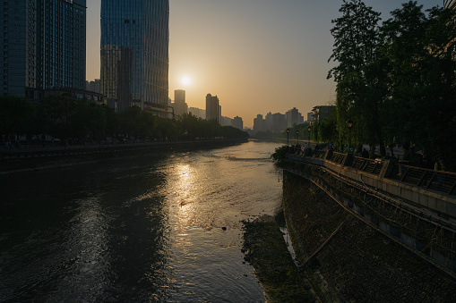
[[168, 115], [169, 0], [101, 0], [101, 93]]

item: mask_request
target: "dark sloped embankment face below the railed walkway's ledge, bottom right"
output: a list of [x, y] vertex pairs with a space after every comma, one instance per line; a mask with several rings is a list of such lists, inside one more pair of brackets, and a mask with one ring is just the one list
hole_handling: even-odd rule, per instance
[[319, 299], [440, 301], [454, 279], [348, 213], [313, 182], [284, 171], [284, 213], [301, 271]]

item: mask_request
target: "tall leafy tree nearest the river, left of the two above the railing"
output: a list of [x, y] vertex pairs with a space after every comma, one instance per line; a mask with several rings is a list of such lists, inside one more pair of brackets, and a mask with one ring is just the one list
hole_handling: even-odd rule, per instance
[[[333, 20], [334, 48], [328, 61], [337, 66], [328, 79], [337, 82], [336, 131], [341, 142], [383, 145], [381, 106], [385, 98], [379, 72], [380, 13], [361, 0], [344, 0], [342, 16]], [[348, 129], [347, 122], [354, 122]], [[383, 148], [384, 154], [384, 148]]]

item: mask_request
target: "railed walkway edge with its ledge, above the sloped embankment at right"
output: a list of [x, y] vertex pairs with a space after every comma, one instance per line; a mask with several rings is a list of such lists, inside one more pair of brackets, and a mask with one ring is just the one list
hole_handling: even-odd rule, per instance
[[348, 213], [456, 278], [455, 173], [331, 150], [289, 147], [286, 158], [284, 173], [314, 182]]

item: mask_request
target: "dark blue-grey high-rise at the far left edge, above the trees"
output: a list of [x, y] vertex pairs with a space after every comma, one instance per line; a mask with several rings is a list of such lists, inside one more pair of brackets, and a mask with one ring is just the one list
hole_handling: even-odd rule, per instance
[[86, 0], [0, 1], [1, 95], [85, 86]]

